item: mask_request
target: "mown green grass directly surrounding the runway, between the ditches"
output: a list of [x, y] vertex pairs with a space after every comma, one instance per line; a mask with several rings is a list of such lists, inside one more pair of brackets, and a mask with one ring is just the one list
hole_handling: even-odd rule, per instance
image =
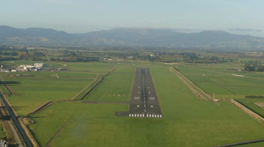
[[[131, 90], [134, 65], [124, 64], [124, 66], [117, 65], [115, 72], [108, 76], [109, 79], [106, 79], [85, 100], [114, 102], [128, 100], [126, 97], [112, 96], [113, 93], [127, 95]], [[214, 102], [201, 101], [168, 70], [168, 67], [155, 63], [148, 65], [163, 111], [163, 119], [114, 115], [116, 111], [127, 111], [128, 104], [57, 102], [31, 115], [31, 119], [36, 122], [30, 125], [34, 136], [41, 146], [46, 146], [56, 131], [61, 130], [59, 136], [49, 144], [54, 147], [205, 147], [263, 138], [263, 124], [230, 102], [220, 102], [217, 105]], [[121, 80], [126, 82], [120, 82]], [[101, 95], [104, 97], [100, 97]], [[66, 124], [65, 128], [61, 129], [64, 124]], [[259, 144], [263, 143], [255, 145], [259, 146]]]

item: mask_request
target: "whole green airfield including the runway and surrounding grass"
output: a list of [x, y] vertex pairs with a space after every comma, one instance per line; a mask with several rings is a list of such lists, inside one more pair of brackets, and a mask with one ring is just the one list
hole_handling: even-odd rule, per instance
[[[21, 62], [24, 61], [15, 63]], [[16, 81], [9, 84], [14, 93], [2, 85], [0, 88], [39, 146], [206, 147], [263, 138], [263, 123], [228, 100], [238, 99], [256, 109], [254, 104], [260, 104], [261, 100], [244, 97], [253, 92], [264, 94], [263, 75], [228, 70], [238, 66], [234, 63], [214, 66], [158, 62], [46, 64], [53, 68], [67, 64], [67, 68], [32, 72], [31, 76], [1, 73], [5, 81]], [[170, 70], [171, 66], [220, 101], [197, 97]], [[261, 114], [264, 110], [258, 107], [256, 111]], [[260, 142], [244, 146], [263, 145]]]

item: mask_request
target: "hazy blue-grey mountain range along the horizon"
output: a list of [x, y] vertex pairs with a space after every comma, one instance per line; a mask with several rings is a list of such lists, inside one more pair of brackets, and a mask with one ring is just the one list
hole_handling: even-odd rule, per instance
[[180, 33], [173, 29], [114, 28], [89, 33], [66, 33], [48, 28], [0, 26], [0, 45], [259, 50], [264, 48], [264, 38], [234, 35], [224, 31]]

